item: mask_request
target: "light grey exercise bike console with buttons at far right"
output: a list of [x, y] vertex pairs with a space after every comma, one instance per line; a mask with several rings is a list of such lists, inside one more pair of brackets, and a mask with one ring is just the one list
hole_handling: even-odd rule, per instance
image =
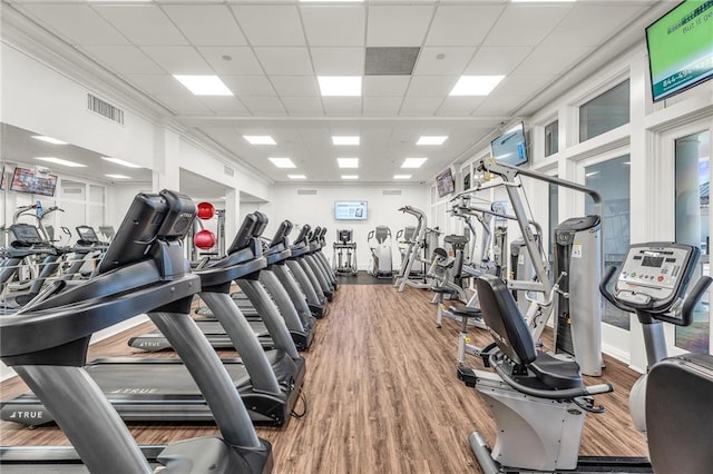
[[622, 265], [614, 297], [634, 308], [667, 310], [683, 296], [699, 254], [697, 247], [682, 244], [632, 245]]

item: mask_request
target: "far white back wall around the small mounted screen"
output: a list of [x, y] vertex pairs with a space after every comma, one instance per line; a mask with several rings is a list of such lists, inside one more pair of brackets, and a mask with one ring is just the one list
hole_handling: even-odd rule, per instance
[[[297, 195], [299, 189], [316, 190], [315, 195]], [[383, 195], [384, 190], [398, 190], [401, 195]], [[356, 243], [356, 261], [359, 269], [369, 267], [371, 251], [367, 240], [370, 230], [377, 226], [385, 225], [391, 229], [393, 237], [392, 261], [397, 269], [400, 265], [397, 249], [395, 234], [406, 226], [414, 226], [413, 216], [399, 211], [403, 206], [412, 206], [426, 210], [428, 188], [423, 186], [275, 186], [273, 201], [270, 206], [263, 206], [270, 217], [270, 226], [265, 235], [272, 235], [276, 226], [284, 219], [291, 220], [295, 226], [309, 224], [326, 227], [325, 255], [332, 260], [332, 244], [336, 239], [336, 229], [353, 229]], [[335, 220], [334, 201], [336, 200], [367, 200], [369, 201], [369, 219]], [[296, 231], [293, 231], [293, 237]]]

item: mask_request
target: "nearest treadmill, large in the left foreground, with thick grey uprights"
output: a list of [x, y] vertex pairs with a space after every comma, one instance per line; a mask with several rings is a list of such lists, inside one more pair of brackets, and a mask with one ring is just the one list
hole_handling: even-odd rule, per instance
[[[95, 278], [80, 286], [56, 280], [25, 309], [0, 318], [0, 358], [38, 394], [74, 445], [48, 448], [50, 458], [31, 472], [57, 472], [53, 462], [77, 455], [94, 473], [154, 472], [82, 368], [94, 333], [141, 313], [173, 340], [221, 432], [167, 446], [156, 460], [165, 466], [162, 472], [271, 471], [271, 444], [257, 437], [225, 368], [188, 316], [201, 277], [189, 273], [180, 241], [194, 217], [195, 205], [186, 196], [168, 190], [137, 195]], [[19, 457], [27, 453], [23, 448], [0, 451], [3, 473], [18, 452]]]

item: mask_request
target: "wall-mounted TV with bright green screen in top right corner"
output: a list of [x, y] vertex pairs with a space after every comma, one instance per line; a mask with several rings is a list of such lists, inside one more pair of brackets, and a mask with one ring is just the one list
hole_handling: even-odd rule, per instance
[[646, 46], [654, 101], [711, 79], [713, 2], [682, 2], [646, 28]]

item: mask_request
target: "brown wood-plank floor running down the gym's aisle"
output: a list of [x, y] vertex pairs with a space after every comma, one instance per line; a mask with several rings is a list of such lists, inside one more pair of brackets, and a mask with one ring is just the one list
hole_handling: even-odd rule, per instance
[[[491, 442], [495, 426], [478, 393], [456, 377], [458, 326], [434, 325], [429, 292], [388, 285], [342, 285], [331, 314], [319, 322], [305, 353], [307, 414], [286, 428], [258, 428], [272, 442], [275, 473], [477, 473], [468, 445], [478, 429]], [[94, 345], [90, 358], [128, 355], [129, 335]], [[129, 334], [130, 333], [130, 334]], [[475, 344], [488, 342], [473, 330]], [[134, 353], [136, 354], [136, 353]], [[478, 365], [476, 359], [473, 365]], [[616, 392], [600, 396], [603, 415], [588, 415], [582, 443], [586, 455], [646, 453], [629, 422], [626, 399], [636, 374], [606, 358], [605, 376]], [[0, 385], [2, 398], [25, 391], [16, 379]], [[140, 444], [165, 444], [214, 434], [212, 425], [131, 424]], [[56, 427], [28, 429], [0, 424], [3, 445], [67, 444]]]

